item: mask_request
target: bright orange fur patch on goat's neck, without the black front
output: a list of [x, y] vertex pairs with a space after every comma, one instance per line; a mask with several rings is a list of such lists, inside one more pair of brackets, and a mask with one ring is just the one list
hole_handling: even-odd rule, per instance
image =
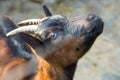
[[68, 80], [64, 69], [39, 58], [39, 68], [34, 80]]

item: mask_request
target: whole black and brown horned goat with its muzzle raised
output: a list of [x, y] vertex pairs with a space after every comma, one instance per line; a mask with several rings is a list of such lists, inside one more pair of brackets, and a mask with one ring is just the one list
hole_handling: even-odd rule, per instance
[[[0, 80], [73, 80], [77, 61], [103, 31], [95, 15], [68, 19], [44, 9], [47, 18], [23, 21], [17, 29], [10, 19], [0, 18]], [[20, 32], [27, 34], [12, 36]]]

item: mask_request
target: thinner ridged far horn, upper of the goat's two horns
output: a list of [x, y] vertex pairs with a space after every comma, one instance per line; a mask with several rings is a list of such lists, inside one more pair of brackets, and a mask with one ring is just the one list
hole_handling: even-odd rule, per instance
[[22, 26], [27, 26], [27, 25], [37, 25], [39, 23], [41, 23], [42, 21], [44, 21], [46, 18], [42, 18], [42, 19], [27, 19], [27, 20], [23, 20], [21, 22], [18, 23], [18, 26], [22, 27]]

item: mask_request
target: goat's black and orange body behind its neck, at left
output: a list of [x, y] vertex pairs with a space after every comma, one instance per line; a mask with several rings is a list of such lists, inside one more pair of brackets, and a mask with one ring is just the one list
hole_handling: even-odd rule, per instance
[[[20, 37], [5, 36], [7, 31], [15, 27], [11, 19], [0, 15], [0, 80], [22, 80], [37, 70], [35, 56]], [[25, 49], [21, 48], [20, 51], [20, 47]]]

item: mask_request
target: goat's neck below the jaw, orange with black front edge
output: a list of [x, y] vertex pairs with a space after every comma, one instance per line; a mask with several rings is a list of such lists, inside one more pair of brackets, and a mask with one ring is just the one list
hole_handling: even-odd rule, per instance
[[34, 80], [73, 80], [76, 63], [65, 68], [39, 58], [39, 69]]

